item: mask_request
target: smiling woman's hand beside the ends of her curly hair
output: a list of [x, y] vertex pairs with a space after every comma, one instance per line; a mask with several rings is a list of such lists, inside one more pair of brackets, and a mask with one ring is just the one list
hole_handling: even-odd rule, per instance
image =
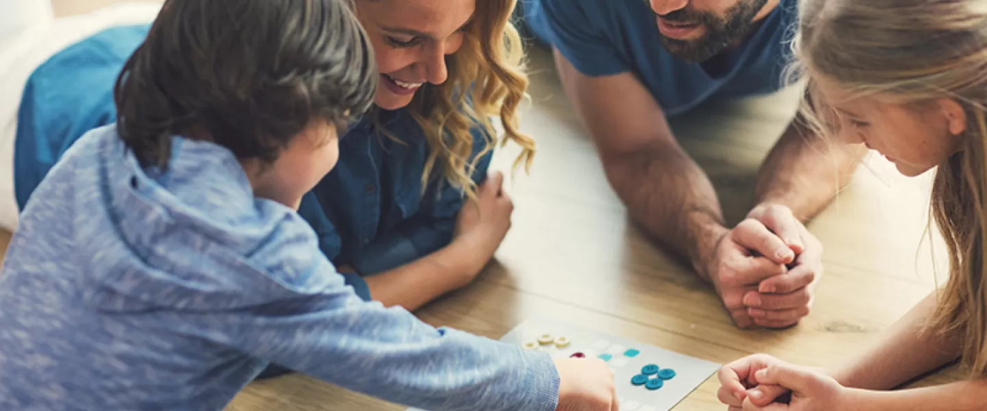
[[503, 190], [503, 174], [493, 172], [477, 187], [477, 199], [463, 204], [456, 218], [454, 239], [468, 241], [471, 249], [487, 259], [500, 246], [510, 229], [510, 214], [514, 204]]

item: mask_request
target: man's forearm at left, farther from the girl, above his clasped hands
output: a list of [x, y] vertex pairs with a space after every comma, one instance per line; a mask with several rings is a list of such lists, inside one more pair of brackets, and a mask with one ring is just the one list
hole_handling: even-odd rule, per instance
[[705, 278], [700, 262], [726, 232], [706, 173], [670, 143], [605, 158], [604, 168], [631, 217]]

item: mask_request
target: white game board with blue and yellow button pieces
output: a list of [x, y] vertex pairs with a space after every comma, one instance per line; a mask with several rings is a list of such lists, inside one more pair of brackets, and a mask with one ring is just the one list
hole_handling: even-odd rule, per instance
[[[546, 343], [549, 336], [551, 342]], [[568, 344], [560, 337], [567, 339]], [[586, 358], [606, 360], [614, 371], [621, 411], [671, 410], [720, 369], [719, 364], [550, 318], [529, 319], [510, 330], [500, 341], [527, 345], [528, 349], [547, 352], [553, 357], [580, 353]], [[645, 370], [645, 366], [655, 366], [657, 371], [655, 367]], [[672, 372], [664, 371], [666, 369], [674, 372], [674, 377], [671, 377]], [[636, 382], [644, 383], [636, 385], [632, 379], [639, 375], [645, 377], [638, 377]], [[654, 388], [659, 384], [648, 382], [650, 379], [659, 379], [661, 386], [649, 389], [648, 386]], [[421, 410], [409, 408], [409, 411]]]

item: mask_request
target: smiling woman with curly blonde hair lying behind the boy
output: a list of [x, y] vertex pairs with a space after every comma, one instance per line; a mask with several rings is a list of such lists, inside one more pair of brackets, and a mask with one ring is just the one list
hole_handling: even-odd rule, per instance
[[[515, 167], [534, 155], [518, 130], [528, 83], [509, 22], [515, 0], [352, 4], [380, 71], [375, 104], [341, 133], [339, 165], [299, 214], [358, 295], [415, 309], [470, 283], [506, 235], [511, 201], [502, 175], [487, 178], [497, 140], [521, 146]], [[15, 28], [13, 46], [0, 43], [0, 63], [11, 65], [0, 69], [17, 74], [2, 76], [12, 83], [5, 98], [20, 99], [0, 112], [16, 124], [0, 135], [8, 154], [0, 163], [10, 165], [0, 171], [5, 228], [17, 228], [18, 212], [75, 140], [114, 121], [115, 76], [148, 29], [130, 25], [153, 18], [146, 6], [104, 10]], [[201, 24], [237, 33], [233, 21]]]

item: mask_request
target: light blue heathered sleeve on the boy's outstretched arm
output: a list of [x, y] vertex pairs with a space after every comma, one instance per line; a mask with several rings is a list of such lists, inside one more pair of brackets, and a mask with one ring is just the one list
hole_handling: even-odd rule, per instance
[[[544, 353], [361, 302], [326, 260], [268, 287], [268, 304], [211, 314], [209, 335], [250, 356], [387, 401], [439, 410], [554, 410], [559, 376]], [[251, 273], [240, 273], [255, 275]], [[324, 279], [323, 276], [326, 276]], [[277, 286], [281, 281], [258, 277]], [[319, 284], [322, 283], [322, 284]], [[218, 333], [216, 324], [226, 331]]]

